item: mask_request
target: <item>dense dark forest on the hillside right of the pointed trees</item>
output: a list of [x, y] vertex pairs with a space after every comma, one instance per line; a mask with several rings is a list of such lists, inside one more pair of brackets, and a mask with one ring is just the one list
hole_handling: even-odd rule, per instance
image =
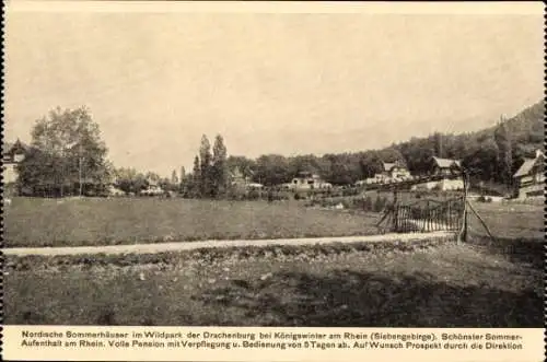
[[256, 160], [230, 156], [228, 166], [232, 170], [237, 166], [254, 182], [267, 186], [290, 182], [302, 171], [314, 172], [334, 185], [347, 185], [373, 176], [381, 170], [382, 162], [398, 161], [412, 174], [424, 174], [429, 171], [431, 156], [437, 155], [461, 160], [475, 180], [510, 186], [524, 157], [544, 148], [544, 114], [545, 102], [542, 101], [476, 132], [434, 133], [380, 150], [323, 156], [266, 154]]

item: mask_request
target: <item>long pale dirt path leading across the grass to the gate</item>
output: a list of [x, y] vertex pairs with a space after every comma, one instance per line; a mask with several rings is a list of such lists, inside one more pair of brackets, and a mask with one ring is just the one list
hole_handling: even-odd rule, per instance
[[4, 248], [5, 255], [81, 255], [81, 254], [153, 254], [162, 252], [191, 250], [212, 247], [237, 247], [237, 246], [266, 246], [266, 245], [314, 245], [333, 243], [363, 243], [363, 242], [410, 242], [433, 237], [450, 237], [454, 233], [431, 232], [411, 234], [383, 234], [368, 236], [346, 237], [311, 237], [311, 238], [277, 238], [255, 241], [203, 241], [203, 242], [178, 242], [156, 244], [128, 244], [128, 245], [104, 245], [104, 246], [67, 246], [67, 247], [13, 247]]

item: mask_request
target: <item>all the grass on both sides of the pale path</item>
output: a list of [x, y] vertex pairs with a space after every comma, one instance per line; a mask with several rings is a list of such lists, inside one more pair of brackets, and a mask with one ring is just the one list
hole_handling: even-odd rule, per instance
[[[7, 324], [540, 327], [538, 206], [474, 207], [470, 237], [203, 248], [146, 255], [8, 256]], [[8, 246], [377, 232], [377, 214], [295, 201], [14, 199]], [[170, 237], [165, 237], [168, 235]]]

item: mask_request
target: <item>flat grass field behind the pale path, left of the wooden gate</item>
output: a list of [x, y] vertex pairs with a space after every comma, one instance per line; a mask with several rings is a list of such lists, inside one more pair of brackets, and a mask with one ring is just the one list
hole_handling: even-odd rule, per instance
[[15, 198], [4, 211], [4, 246], [370, 235], [377, 233], [377, 220], [294, 201]]

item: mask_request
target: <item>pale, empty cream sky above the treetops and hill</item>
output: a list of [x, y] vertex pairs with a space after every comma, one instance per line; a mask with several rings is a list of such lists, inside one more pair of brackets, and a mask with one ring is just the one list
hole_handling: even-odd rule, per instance
[[[536, 8], [537, 9], [537, 8]], [[4, 139], [91, 109], [108, 159], [167, 176], [229, 154], [324, 154], [493, 125], [543, 98], [537, 14], [16, 11]]]

